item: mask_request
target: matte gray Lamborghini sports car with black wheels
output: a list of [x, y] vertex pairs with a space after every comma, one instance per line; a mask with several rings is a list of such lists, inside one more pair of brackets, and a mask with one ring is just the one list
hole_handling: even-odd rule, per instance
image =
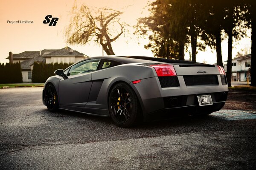
[[172, 59], [90, 57], [55, 74], [43, 90], [49, 111], [111, 116], [122, 127], [219, 111], [228, 93], [222, 67]]

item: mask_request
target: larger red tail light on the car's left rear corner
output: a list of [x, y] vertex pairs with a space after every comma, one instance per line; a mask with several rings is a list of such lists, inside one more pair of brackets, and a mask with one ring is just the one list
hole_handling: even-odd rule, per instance
[[158, 77], [163, 76], [177, 76], [175, 69], [173, 65], [168, 64], [158, 64], [158, 65], [150, 65], [151, 67], [154, 67], [154, 69], [157, 72]]

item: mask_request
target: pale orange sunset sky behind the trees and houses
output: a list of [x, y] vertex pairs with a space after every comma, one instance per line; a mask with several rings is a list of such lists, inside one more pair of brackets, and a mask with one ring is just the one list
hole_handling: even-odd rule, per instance
[[[77, 0], [77, 6], [87, 5], [89, 8], [113, 8], [124, 11], [122, 21], [133, 26], [139, 17], [149, 14], [147, 4], [153, 0]], [[102, 47], [94, 42], [87, 45], [68, 45], [64, 36], [64, 28], [70, 22], [70, 11], [75, 0], [0, 0], [0, 62], [9, 62], [5, 59], [9, 51], [14, 54], [23, 51], [40, 51], [43, 49], [60, 49], [69, 46], [89, 57], [101, 56]], [[58, 17], [55, 27], [43, 24], [46, 15]], [[30, 20], [34, 24], [11, 24], [7, 20]], [[116, 55], [140, 55], [153, 57], [151, 50], [144, 45], [148, 40], [138, 39], [129, 28], [130, 34], [121, 36], [112, 44]], [[250, 48], [250, 39], [244, 38], [233, 43], [233, 56], [242, 48]], [[208, 49], [199, 51], [197, 61], [206, 61], [213, 64], [216, 61], [215, 51]], [[223, 61], [227, 60], [227, 41], [222, 43]], [[185, 59], [189, 59], [186, 53]]]

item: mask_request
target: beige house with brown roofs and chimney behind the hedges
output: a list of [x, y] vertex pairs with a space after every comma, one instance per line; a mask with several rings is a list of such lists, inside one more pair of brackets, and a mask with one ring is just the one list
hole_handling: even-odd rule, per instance
[[31, 82], [34, 62], [43, 63], [75, 63], [88, 56], [70, 47], [42, 51], [24, 51], [20, 54], [9, 53], [9, 62], [20, 62], [23, 82]]

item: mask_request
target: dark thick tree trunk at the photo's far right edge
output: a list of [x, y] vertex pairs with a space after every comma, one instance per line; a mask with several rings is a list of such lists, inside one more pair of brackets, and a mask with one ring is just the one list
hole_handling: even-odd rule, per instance
[[[252, 4], [254, 5], [254, 4]], [[251, 76], [251, 86], [256, 86], [256, 56], [255, 56], [255, 12], [252, 10], [253, 8], [251, 7], [251, 16], [252, 16], [252, 46], [251, 46], [251, 68], [250, 68], [250, 76]]]

